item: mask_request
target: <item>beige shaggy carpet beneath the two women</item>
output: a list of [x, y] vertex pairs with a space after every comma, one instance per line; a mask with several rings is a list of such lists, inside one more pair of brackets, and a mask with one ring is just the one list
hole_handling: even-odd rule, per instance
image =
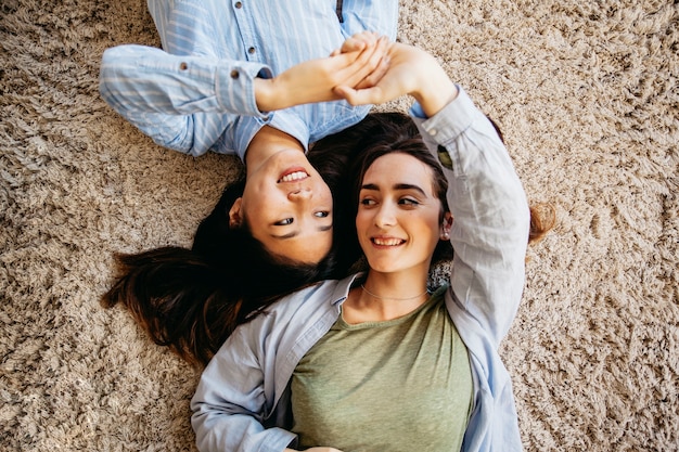
[[[679, 450], [678, 11], [401, 2], [399, 39], [440, 59], [556, 206], [502, 346], [527, 451]], [[195, 449], [198, 373], [99, 296], [113, 251], [189, 245], [240, 167], [165, 151], [104, 104], [101, 54], [129, 42], [158, 42], [143, 0], [0, 0], [3, 451]]]

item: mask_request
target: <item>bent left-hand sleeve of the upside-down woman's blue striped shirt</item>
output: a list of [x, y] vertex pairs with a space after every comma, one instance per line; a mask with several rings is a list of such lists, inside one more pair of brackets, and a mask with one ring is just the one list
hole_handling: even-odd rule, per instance
[[207, 152], [240, 115], [259, 117], [254, 79], [260, 63], [170, 55], [161, 49], [107, 49], [100, 69], [104, 101], [155, 143], [194, 156]]

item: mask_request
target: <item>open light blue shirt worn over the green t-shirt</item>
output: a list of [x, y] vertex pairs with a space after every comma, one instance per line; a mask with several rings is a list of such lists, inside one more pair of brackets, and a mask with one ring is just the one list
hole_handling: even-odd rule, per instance
[[[474, 382], [462, 450], [521, 451], [512, 384], [498, 348], [523, 294], [525, 193], [495, 129], [464, 91], [430, 119], [417, 105], [411, 114], [450, 183], [454, 258], [446, 307], [467, 347]], [[292, 294], [234, 331], [191, 401], [198, 450], [280, 452], [294, 445], [286, 429], [293, 371], [337, 320], [355, 277]]]

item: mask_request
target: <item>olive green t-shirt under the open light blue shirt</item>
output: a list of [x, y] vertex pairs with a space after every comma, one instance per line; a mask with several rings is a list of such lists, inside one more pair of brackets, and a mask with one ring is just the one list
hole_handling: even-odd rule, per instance
[[390, 321], [349, 325], [340, 318], [309, 350], [292, 379], [300, 449], [460, 450], [472, 373], [443, 294]]

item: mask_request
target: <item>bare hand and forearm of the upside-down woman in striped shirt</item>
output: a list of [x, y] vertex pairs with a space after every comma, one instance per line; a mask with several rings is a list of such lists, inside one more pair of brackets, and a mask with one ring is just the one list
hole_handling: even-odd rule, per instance
[[255, 99], [262, 112], [286, 108], [312, 102], [342, 99], [334, 88], [342, 85], [363, 88], [367, 78], [386, 73], [384, 59], [388, 49], [386, 38], [356, 35], [343, 46], [347, 52], [334, 51], [325, 59], [300, 63], [271, 79], [255, 79]]

